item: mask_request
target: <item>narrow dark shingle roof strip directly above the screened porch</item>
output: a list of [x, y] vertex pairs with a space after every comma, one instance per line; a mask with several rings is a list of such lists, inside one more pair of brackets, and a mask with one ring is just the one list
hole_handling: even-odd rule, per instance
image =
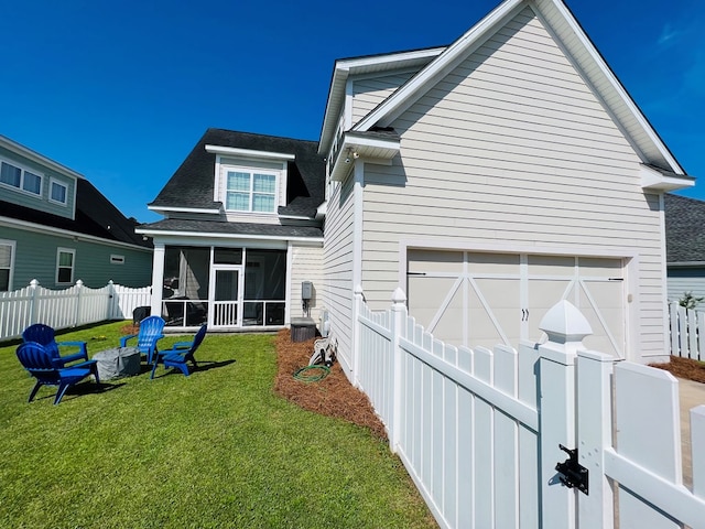
[[226, 223], [167, 218], [143, 226], [152, 231], [185, 231], [199, 235], [246, 235], [257, 237], [323, 237], [323, 230], [313, 226], [282, 226], [280, 224]]

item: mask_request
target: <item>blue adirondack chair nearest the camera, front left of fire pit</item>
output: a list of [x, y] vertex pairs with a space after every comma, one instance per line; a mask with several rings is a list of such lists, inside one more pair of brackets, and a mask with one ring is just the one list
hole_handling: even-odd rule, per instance
[[36, 342], [20, 344], [17, 355], [24, 369], [36, 379], [28, 402], [32, 402], [42, 386], [58, 386], [54, 398], [54, 404], [58, 404], [66, 390], [84, 378], [93, 375], [96, 377], [96, 384], [100, 384], [95, 361], [84, 363], [85, 365], [82, 364], [82, 367], [62, 367], [61, 361], [54, 358], [46, 347]]

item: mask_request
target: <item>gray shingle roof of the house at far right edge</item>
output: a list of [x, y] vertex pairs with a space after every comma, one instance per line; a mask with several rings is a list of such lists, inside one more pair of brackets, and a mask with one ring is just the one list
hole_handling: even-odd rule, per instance
[[665, 194], [666, 262], [705, 262], [705, 202]]

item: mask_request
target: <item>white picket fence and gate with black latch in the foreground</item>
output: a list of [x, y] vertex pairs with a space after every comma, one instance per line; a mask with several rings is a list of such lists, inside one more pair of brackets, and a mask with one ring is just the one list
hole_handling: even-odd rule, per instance
[[[549, 341], [517, 352], [446, 345], [392, 300], [371, 312], [357, 289], [351, 376], [441, 527], [705, 527], [705, 406], [690, 411], [687, 488], [671, 374], [583, 350], [589, 324], [565, 301]], [[561, 445], [585, 492], [556, 471]]]

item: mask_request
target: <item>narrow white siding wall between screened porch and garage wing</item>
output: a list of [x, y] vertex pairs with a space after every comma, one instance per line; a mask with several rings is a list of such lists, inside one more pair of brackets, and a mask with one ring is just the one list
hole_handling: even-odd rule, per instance
[[302, 281], [313, 283], [313, 299], [308, 304], [311, 317], [318, 324], [319, 311], [323, 305], [323, 247], [292, 246], [291, 270], [291, 317], [304, 316], [301, 300]]

